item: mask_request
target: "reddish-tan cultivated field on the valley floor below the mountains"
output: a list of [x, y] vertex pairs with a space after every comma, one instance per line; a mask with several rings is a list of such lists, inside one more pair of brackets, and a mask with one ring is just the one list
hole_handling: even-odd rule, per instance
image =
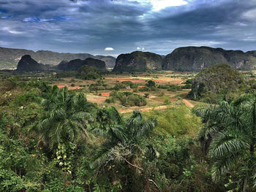
[[[186, 104], [189, 107], [193, 107], [197, 104], [196, 101], [191, 101], [187, 99], [187, 94], [190, 89], [182, 89], [179, 91], [167, 91], [167, 89], [158, 89], [157, 91], [138, 91], [138, 89], [146, 86], [148, 80], [153, 80], [156, 85], [184, 85], [184, 82], [189, 78], [192, 78], [195, 74], [192, 73], [181, 73], [181, 72], [159, 72], [157, 74], [140, 73], [140, 74], [105, 74], [102, 77], [102, 81], [106, 85], [104, 89], [99, 89], [97, 91], [89, 91], [89, 86], [91, 84], [97, 84], [98, 80], [78, 80], [75, 77], [62, 78], [61, 81], [53, 81], [52, 85], [58, 85], [59, 88], [67, 86], [69, 90], [80, 90], [86, 92], [86, 98], [99, 107], [103, 106], [115, 106], [116, 109], [121, 113], [129, 113], [132, 110], [165, 110], [170, 105], [175, 104]], [[146, 98], [146, 106], [141, 107], [125, 107], [119, 101], [115, 103], [107, 104], [106, 99], [110, 98], [111, 88], [121, 82], [133, 82], [138, 84], [138, 88], [122, 88], [119, 91], [129, 91], [135, 92], [140, 96], [145, 96], [148, 93], [148, 98]], [[170, 100], [167, 104], [166, 101]]]

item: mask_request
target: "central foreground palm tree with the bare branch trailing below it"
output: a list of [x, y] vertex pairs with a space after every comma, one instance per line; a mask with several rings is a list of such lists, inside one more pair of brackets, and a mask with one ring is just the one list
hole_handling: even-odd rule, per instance
[[[102, 115], [102, 111], [98, 112], [98, 115], [101, 118], [108, 117], [108, 120], [104, 120], [104, 122], [110, 123], [105, 125], [101, 123], [101, 120], [97, 120], [99, 126], [94, 128], [93, 131], [105, 137], [105, 142], [99, 147], [97, 158], [91, 166], [104, 171], [106, 166], [116, 164], [116, 166], [121, 165], [132, 168], [131, 173], [138, 170], [140, 174], [143, 174], [143, 168], [135, 164], [135, 159], [146, 152], [155, 152], [154, 150], [152, 151], [152, 147], [148, 149], [148, 146], [143, 145], [142, 139], [148, 136], [152, 129], [157, 126], [157, 120], [145, 120], [139, 111], [134, 111], [127, 120], [123, 120], [115, 108], [110, 108], [105, 112], [112, 115]], [[128, 180], [127, 173], [125, 175], [127, 177], [125, 180]], [[153, 183], [159, 190], [157, 183], [147, 177], [143, 174], [143, 179]]]

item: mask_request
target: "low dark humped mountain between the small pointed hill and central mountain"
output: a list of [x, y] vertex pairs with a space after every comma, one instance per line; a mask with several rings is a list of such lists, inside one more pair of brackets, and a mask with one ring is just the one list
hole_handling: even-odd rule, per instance
[[85, 65], [94, 66], [99, 69], [99, 71], [107, 71], [105, 62], [96, 58], [86, 58], [85, 60], [74, 59], [69, 62], [61, 61], [61, 63], [57, 66], [57, 69], [64, 71], [79, 71], [81, 66]]

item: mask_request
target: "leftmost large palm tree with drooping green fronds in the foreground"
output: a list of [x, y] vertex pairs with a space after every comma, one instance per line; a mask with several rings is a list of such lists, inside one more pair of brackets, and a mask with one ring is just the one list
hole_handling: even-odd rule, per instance
[[53, 150], [60, 142], [78, 142], [87, 137], [86, 128], [91, 123], [92, 104], [83, 93], [69, 93], [67, 87], [50, 87], [43, 94], [45, 115], [37, 125], [39, 140]]

